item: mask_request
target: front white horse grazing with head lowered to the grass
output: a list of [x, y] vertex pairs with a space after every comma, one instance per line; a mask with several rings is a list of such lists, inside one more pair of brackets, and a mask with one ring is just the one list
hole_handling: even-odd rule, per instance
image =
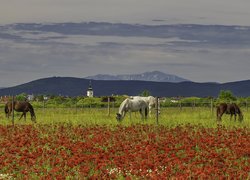
[[142, 119], [147, 119], [148, 104], [142, 99], [126, 98], [119, 107], [119, 112], [116, 114], [117, 120], [122, 120], [128, 111], [139, 111]]

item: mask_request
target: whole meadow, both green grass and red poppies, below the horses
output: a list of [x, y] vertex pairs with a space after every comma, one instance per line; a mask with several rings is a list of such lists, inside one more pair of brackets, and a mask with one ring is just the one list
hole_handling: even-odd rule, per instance
[[244, 121], [208, 107], [161, 108], [115, 119], [117, 108], [36, 108], [37, 123], [0, 113], [0, 179], [250, 178]]

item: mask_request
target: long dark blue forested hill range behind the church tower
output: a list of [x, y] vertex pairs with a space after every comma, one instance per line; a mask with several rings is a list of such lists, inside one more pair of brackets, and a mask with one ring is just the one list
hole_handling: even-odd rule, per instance
[[[50, 94], [63, 96], [86, 96], [90, 80], [72, 77], [51, 77], [18, 86], [0, 89], [0, 95]], [[250, 96], [250, 80], [231, 83], [150, 82], [150, 81], [101, 81], [91, 80], [95, 96], [138, 95], [148, 90], [153, 96], [217, 97], [220, 90], [230, 90], [235, 96]]]

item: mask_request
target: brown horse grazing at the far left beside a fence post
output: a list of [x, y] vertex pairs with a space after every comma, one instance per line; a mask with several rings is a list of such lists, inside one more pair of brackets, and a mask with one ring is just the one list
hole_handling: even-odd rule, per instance
[[[13, 109], [17, 112], [22, 112], [21, 117], [19, 118], [19, 120], [24, 117], [24, 119], [26, 120], [26, 113], [30, 112], [30, 116], [31, 116], [31, 120], [36, 122], [36, 115], [34, 112], [34, 108], [32, 107], [32, 105], [29, 102], [26, 101], [14, 101], [13, 103]], [[12, 102], [7, 102], [5, 104], [5, 115], [7, 118], [9, 118], [11, 112], [12, 112]]]

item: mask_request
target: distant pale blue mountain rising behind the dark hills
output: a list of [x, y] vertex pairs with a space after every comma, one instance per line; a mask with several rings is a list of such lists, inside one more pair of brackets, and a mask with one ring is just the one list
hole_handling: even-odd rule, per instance
[[161, 71], [151, 71], [151, 72], [144, 72], [141, 74], [121, 74], [121, 75], [97, 74], [85, 78], [93, 80], [135, 80], [135, 81], [174, 82], [174, 83], [190, 81], [176, 75], [163, 73]]

